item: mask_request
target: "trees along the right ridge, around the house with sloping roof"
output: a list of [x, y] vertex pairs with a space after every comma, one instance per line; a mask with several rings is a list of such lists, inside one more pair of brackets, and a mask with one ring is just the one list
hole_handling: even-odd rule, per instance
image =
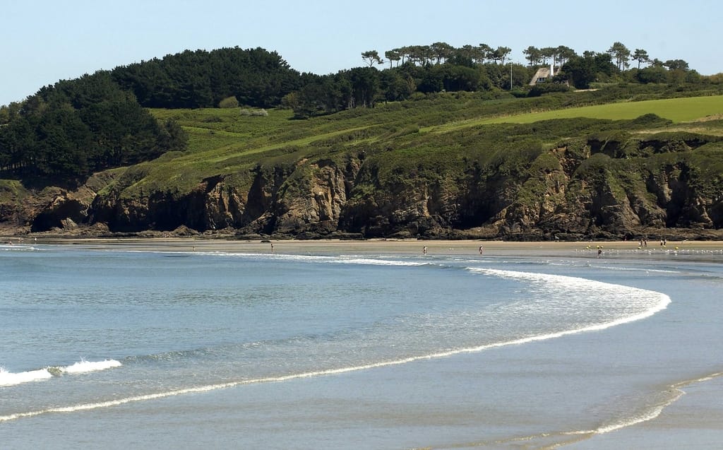
[[[585, 51], [578, 55], [567, 46], [523, 51], [527, 66], [509, 61], [509, 47], [478, 46], [455, 48], [437, 42], [429, 46], [404, 46], [385, 51], [364, 51], [364, 67], [343, 70], [335, 75], [302, 77], [301, 88], [283, 98], [284, 106], [297, 117], [330, 114], [354, 107], [374, 106], [377, 101], [400, 101], [414, 93], [455, 92], [460, 90], [511, 90], [518, 94], [586, 89], [593, 82], [680, 83], [699, 82], [701, 76], [682, 59], [659, 61], [636, 48], [630, 51], [615, 42], [604, 52]], [[630, 62], [637, 67], [630, 69]], [[375, 65], [388, 67], [376, 69]], [[556, 76], [544, 85], [529, 87], [538, 67], [552, 64]], [[643, 67], [644, 64], [644, 67]]]

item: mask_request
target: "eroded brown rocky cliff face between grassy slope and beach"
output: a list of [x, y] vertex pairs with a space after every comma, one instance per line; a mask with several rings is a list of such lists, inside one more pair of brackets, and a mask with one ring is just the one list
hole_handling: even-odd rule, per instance
[[[702, 143], [701, 145], [703, 145]], [[523, 171], [495, 174], [472, 162], [435, 177], [382, 180], [364, 156], [257, 166], [202, 179], [186, 192], [142, 190], [142, 173], [48, 188], [3, 221], [26, 231], [197, 232], [285, 237], [624, 237], [723, 226], [723, 186], [711, 189], [686, 158], [625, 159], [620, 143], [545, 150]], [[651, 155], [688, 143], [641, 143]], [[638, 150], [636, 150], [638, 151]], [[621, 153], [623, 152], [623, 153]], [[612, 156], [611, 156], [612, 155]], [[11, 217], [12, 216], [12, 217]], [[693, 236], [694, 237], [694, 236]]]

